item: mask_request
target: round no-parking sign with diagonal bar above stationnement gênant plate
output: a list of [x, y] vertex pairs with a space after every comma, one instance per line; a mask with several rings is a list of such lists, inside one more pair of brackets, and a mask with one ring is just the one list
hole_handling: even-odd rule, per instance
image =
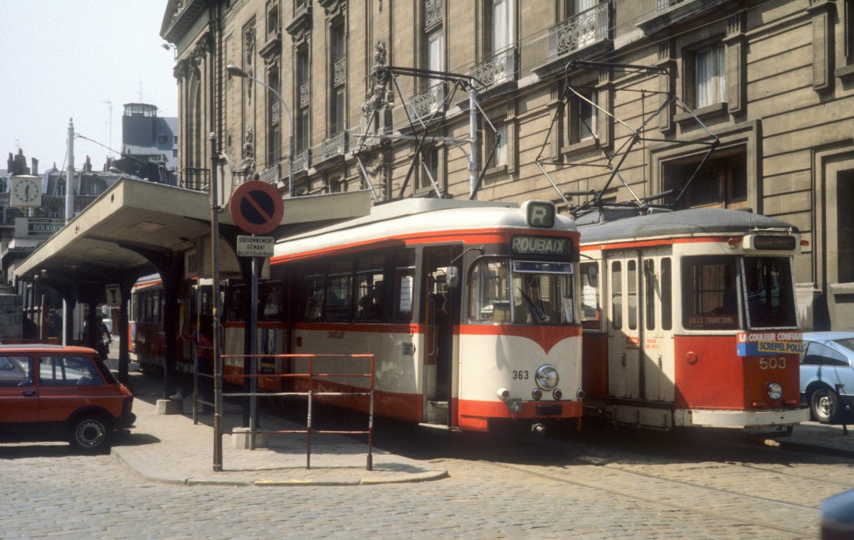
[[282, 196], [272, 184], [249, 180], [231, 194], [228, 211], [235, 225], [249, 234], [273, 232], [284, 215]]

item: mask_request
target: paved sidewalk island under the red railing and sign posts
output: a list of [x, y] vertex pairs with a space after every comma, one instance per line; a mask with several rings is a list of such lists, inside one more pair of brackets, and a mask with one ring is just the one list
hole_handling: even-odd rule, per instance
[[[114, 361], [109, 361], [114, 364]], [[268, 435], [265, 448], [235, 449], [232, 436], [222, 437], [222, 470], [213, 471], [213, 414], [192, 419], [192, 400], [184, 400], [184, 414], [157, 414], [156, 400], [162, 384], [140, 373], [131, 373], [133, 412], [130, 432], [114, 439], [112, 455], [145, 478], [170, 484], [219, 485], [359, 485], [424, 482], [445, 478], [447, 471], [424, 461], [372, 449], [373, 467], [366, 469], [367, 444], [341, 435], [312, 437], [311, 468], [307, 469], [306, 436]], [[260, 414], [266, 430], [301, 430], [288, 420]], [[223, 431], [239, 427], [241, 408], [225, 404]], [[356, 429], [361, 429], [358, 426]], [[366, 440], [366, 437], [363, 437]]]

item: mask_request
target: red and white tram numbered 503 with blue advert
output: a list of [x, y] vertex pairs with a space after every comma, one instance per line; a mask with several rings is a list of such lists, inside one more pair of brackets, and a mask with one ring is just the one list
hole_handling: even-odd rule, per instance
[[588, 411], [658, 429], [809, 420], [798, 385], [796, 229], [720, 208], [600, 208], [576, 223]]

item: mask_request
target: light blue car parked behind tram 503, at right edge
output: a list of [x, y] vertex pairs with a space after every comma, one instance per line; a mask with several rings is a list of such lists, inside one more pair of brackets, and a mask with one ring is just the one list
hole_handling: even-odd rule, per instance
[[813, 420], [829, 424], [843, 419], [854, 404], [854, 332], [804, 332], [801, 353], [801, 399]]

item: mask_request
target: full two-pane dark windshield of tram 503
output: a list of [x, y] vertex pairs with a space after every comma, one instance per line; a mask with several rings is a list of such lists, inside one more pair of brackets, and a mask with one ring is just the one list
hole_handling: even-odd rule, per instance
[[682, 271], [688, 330], [797, 326], [787, 257], [687, 257]]

